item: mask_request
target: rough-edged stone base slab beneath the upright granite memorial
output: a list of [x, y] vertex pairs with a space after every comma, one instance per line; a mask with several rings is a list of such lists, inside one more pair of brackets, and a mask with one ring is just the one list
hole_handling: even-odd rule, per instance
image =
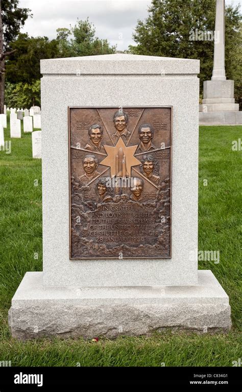
[[197, 286], [44, 287], [42, 272], [27, 272], [9, 311], [12, 336], [93, 338], [149, 335], [164, 328], [228, 331], [229, 298], [210, 270]]

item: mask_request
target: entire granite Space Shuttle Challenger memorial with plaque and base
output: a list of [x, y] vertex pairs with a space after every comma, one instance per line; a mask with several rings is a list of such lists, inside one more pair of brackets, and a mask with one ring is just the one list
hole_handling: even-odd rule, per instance
[[[229, 330], [227, 294], [198, 271], [198, 73], [194, 59], [41, 60], [43, 272], [12, 299], [14, 337]], [[127, 145], [112, 138], [122, 122]], [[99, 129], [107, 154], [86, 149]], [[104, 201], [102, 176], [121, 167], [136, 186]]]

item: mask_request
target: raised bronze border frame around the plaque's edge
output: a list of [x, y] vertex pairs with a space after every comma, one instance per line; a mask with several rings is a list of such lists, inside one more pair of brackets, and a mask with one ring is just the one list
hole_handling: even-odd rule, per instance
[[[85, 261], [85, 260], [117, 260], [115, 257], [99, 257], [99, 258], [73, 258], [71, 257], [71, 180], [70, 180], [70, 109], [113, 109], [116, 108], [117, 106], [68, 106], [68, 177], [69, 177], [69, 260], [70, 261]], [[125, 108], [126, 106], [122, 106]], [[171, 259], [172, 258], [172, 147], [173, 147], [173, 106], [172, 105], [163, 105], [163, 106], [158, 106], [158, 105], [146, 105], [146, 106], [134, 106], [134, 105], [129, 105], [127, 107], [133, 107], [133, 108], [169, 108], [171, 109], [171, 162], [170, 162], [170, 171], [171, 171], [171, 200], [170, 200], [170, 255], [169, 257], [138, 257], [138, 258], [130, 258], [130, 257], [123, 257], [123, 260], [148, 260], [148, 259], [154, 259], [154, 260], [165, 260], [165, 259]]]

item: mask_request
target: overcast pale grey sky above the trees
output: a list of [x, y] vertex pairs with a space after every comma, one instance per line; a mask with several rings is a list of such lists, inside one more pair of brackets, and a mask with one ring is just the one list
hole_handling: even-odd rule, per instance
[[[226, 4], [241, 4], [242, 0], [226, 0]], [[107, 38], [117, 50], [134, 44], [132, 33], [138, 19], [148, 16], [151, 0], [20, 0], [19, 6], [30, 8], [33, 18], [28, 18], [22, 32], [30, 36], [56, 38], [56, 29], [74, 26], [77, 18], [92, 22], [96, 36]]]

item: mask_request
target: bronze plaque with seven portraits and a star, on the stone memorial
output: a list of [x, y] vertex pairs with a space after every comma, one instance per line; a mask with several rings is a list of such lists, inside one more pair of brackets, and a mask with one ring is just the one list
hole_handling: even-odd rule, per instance
[[69, 107], [70, 259], [171, 258], [171, 107]]

